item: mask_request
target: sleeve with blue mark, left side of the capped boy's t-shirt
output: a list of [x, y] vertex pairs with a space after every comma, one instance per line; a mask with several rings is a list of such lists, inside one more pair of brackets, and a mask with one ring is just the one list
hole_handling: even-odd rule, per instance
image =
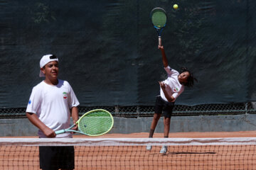
[[36, 113], [40, 105], [41, 105], [41, 93], [34, 87], [28, 101], [26, 112]]

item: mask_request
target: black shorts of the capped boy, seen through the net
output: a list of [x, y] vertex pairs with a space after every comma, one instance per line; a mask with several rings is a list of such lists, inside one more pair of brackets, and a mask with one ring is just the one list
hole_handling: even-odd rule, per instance
[[75, 151], [68, 147], [39, 147], [41, 169], [75, 169]]

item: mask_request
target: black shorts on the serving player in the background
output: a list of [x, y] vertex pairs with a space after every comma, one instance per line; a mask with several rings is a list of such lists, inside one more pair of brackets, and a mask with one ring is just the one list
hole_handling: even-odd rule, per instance
[[156, 96], [156, 103], [154, 106], [155, 113], [164, 113], [165, 118], [171, 118], [171, 113], [174, 109], [174, 102], [164, 101], [161, 96]]

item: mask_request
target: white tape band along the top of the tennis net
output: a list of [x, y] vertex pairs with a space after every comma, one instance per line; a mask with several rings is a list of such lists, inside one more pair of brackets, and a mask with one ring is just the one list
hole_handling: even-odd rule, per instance
[[226, 138], [0, 138], [0, 145], [135, 146], [135, 145], [256, 145], [256, 137]]

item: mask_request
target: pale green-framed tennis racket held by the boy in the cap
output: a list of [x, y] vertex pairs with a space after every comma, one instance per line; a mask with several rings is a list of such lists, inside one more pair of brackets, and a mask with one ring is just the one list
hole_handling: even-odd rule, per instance
[[110, 112], [103, 109], [95, 109], [82, 115], [82, 117], [75, 123], [78, 125], [78, 130], [72, 130], [75, 125], [68, 129], [55, 131], [58, 135], [64, 132], [78, 132], [87, 136], [100, 136], [109, 132], [113, 125], [114, 119]]

